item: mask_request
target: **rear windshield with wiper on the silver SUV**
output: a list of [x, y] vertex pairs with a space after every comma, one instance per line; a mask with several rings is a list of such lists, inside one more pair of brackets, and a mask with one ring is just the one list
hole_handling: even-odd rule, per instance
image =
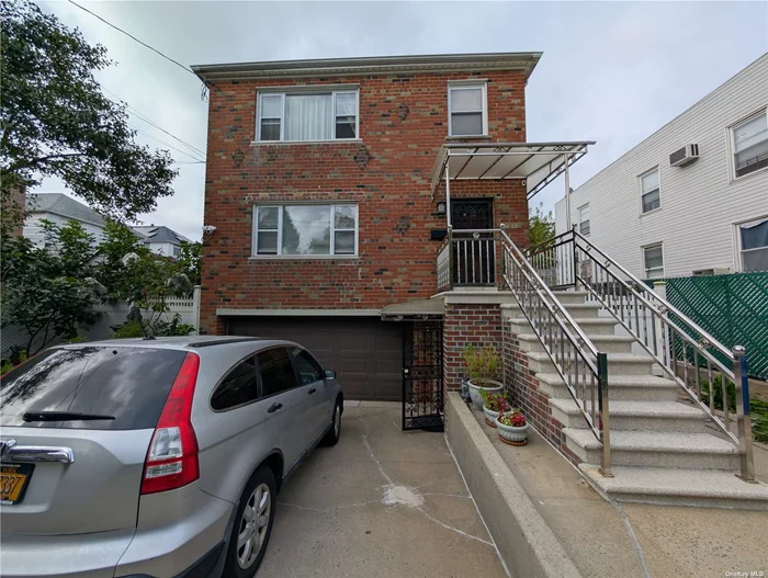
[[[185, 351], [124, 347], [48, 350], [2, 377], [3, 426], [139, 430], [157, 426]], [[114, 419], [24, 421], [25, 412], [67, 411]]]

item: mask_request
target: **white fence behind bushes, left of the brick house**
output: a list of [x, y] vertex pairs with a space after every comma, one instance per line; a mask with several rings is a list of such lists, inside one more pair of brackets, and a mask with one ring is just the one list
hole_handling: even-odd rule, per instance
[[[162, 314], [162, 319], [169, 320], [178, 314], [181, 316], [182, 324], [189, 324], [195, 328], [199, 327], [200, 285], [195, 285], [191, 299], [169, 299], [166, 303], [170, 307], [170, 311], [168, 314]], [[100, 304], [93, 307], [93, 309], [101, 314], [99, 320], [92, 326], [80, 330], [80, 336], [86, 338], [87, 341], [110, 339], [114, 335], [112, 327], [123, 325], [126, 321], [128, 313], [131, 311], [131, 305], [127, 303], [118, 303], [116, 305]], [[145, 318], [148, 318], [149, 314], [150, 311], [148, 310], [142, 310], [142, 315]], [[2, 328], [2, 330], [0, 330], [0, 356], [7, 358], [14, 348], [26, 349], [27, 339], [26, 332], [20, 327], [9, 326]], [[33, 351], [39, 347], [42, 338], [38, 338], [36, 342], [33, 343]], [[63, 341], [64, 339], [57, 337], [49, 345], [56, 345]]]

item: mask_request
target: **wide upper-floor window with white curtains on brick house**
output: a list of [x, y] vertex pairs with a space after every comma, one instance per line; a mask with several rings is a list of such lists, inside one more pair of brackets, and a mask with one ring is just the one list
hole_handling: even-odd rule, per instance
[[354, 140], [359, 132], [358, 89], [261, 92], [258, 141]]

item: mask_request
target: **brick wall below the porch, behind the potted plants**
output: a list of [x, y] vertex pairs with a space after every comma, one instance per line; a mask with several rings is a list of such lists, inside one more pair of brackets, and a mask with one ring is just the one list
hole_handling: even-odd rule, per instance
[[501, 309], [498, 304], [447, 303], [442, 342], [443, 388], [458, 390], [466, 375], [462, 354], [467, 345], [493, 347], [501, 355]]

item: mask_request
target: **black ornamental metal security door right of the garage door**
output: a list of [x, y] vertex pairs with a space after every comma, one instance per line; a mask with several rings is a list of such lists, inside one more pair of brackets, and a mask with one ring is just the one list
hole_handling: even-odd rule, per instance
[[443, 430], [442, 321], [406, 321], [403, 430]]

